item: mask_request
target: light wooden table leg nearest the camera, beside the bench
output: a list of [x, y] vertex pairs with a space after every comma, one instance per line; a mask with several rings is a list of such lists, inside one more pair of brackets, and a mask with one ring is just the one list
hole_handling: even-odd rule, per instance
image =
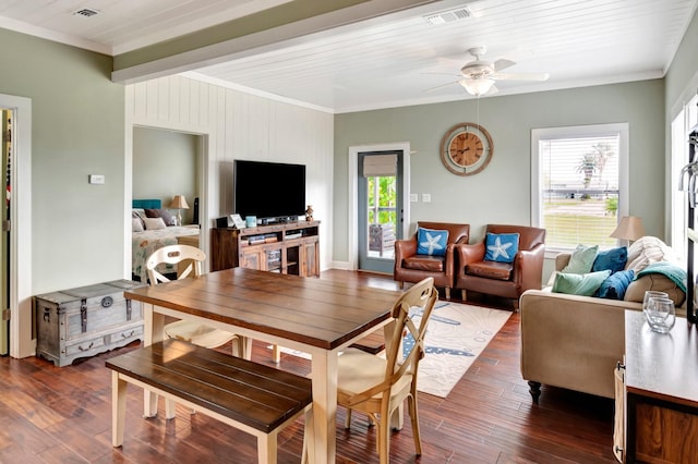
[[313, 442], [317, 464], [332, 464], [337, 452], [337, 352], [312, 353]]

